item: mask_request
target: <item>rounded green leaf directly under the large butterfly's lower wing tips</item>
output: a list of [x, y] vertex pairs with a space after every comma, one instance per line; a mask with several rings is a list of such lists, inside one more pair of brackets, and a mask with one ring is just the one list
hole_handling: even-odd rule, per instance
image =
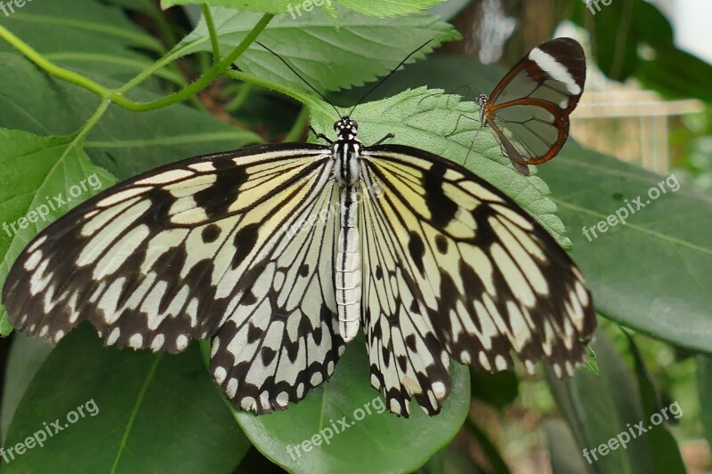
[[409, 472], [447, 445], [465, 421], [468, 371], [453, 364], [450, 374], [452, 391], [440, 414], [429, 417], [413, 401], [410, 418], [398, 417], [371, 387], [360, 336], [346, 348], [331, 380], [298, 404], [273, 414], [234, 415], [253, 444], [290, 472]]

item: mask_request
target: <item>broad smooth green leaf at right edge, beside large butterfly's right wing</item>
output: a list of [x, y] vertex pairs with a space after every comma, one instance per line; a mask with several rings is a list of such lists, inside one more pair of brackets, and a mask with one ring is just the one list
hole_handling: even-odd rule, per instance
[[[572, 256], [587, 277], [598, 312], [664, 341], [712, 350], [709, 198], [675, 175], [661, 177], [574, 143], [539, 175], [572, 229]], [[656, 189], [659, 197], [651, 199]], [[645, 206], [640, 210], [632, 204], [638, 197]], [[596, 228], [626, 211], [625, 225], [605, 232]]]

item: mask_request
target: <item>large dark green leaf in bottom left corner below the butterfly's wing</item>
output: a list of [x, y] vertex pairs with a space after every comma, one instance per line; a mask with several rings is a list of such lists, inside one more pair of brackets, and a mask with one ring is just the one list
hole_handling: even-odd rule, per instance
[[5, 452], [55, 420], [62, 430], [50, 428], [44, 447], [11, 459], [3, 472], [230, 472], [250, 447], [196, 345], [175, 356], [103, 348], [86, 324], [30, 383]]

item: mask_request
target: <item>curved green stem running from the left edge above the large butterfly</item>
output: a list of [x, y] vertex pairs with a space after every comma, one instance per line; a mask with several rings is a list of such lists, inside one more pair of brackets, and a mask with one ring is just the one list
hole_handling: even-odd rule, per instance
[[[60, 79], [66, 80], [72, 84], [77, 84], [85, 89], [96, 93], [104, 99], [109, 99], [111, 102], [117, 104], [120, 107], [132, 110], [134, 112], [142, 112], [146, 110], [154, 110], [156, 108], [164, 108], [174, 103], [180, 102], [190, 98], [193, 94], [202, 91], [208, 84], [214, 81], [215, 78], [222, 75], [228, 68], [230, 68], [232, 62], [239, 58], [240, 54], [247, 50], [247, 47], [255, 41], [255, 38], [262, 32], [262, 30], [267, 26], [270, 20], [274, 17], [272, 14], [265, 14], [257, 22], [255, 28], [247, 34], [245, 39], [236, 47], [224, 60], [214, 64], [206, 74], [200, 76], [198, 80], [194, 83], [187, 85], [182, 90], [175, 92], [174, 94], [168, 95], [164, 98], [158, 100], [151, 100], [150, 102], [137, 102], [135, 100], [126, 99], [122, 92], [127, 91], [135, 84], [141, 82], [141, 80], [152, 74], [150, 71], [152, 68], [147, 69], [139, 76], [134, 77], [134, 80], [125, 84], [123, 87], [119, 88], [117, 91], [111, 90], [103, 85], [94, 82], [88, 77], [81, 76], [74, 71], [69, 69], [61, 68], [53, 62], [46, 60], [42, 54], [36, 52], [28, 44], [20, 40], [19, 37], [13, 35], [7, 28], [0, 26], [0, 37], [11, 44], [15, 49], [22, 52], [29, 60], [32, 60], [37, 66], [43, 68], [49, 74], [58, 77]], [[154, 65], [155, 66], [155, 65]], [[161, 66], [162, 67], [162, 66]], [[139, 78], [141, 78], [139, 80]]]

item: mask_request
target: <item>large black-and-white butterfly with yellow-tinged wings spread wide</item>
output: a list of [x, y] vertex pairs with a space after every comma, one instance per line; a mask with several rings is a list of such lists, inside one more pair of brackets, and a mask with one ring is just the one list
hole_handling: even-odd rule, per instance
[[541, 225], [464, 167], [328, 145], [193, 157], [117, 184], [44, 229], [4, 285], [10, 321], [57, 342], [88, 320], [107, 345], [212, 341], [210, 371], [258, 414], [333, 374], [363, 326], [389, 409], [437, 414], [452, 358], [487, 371], [546, 359], [559, 376], [595, 328], [584, 277]]

